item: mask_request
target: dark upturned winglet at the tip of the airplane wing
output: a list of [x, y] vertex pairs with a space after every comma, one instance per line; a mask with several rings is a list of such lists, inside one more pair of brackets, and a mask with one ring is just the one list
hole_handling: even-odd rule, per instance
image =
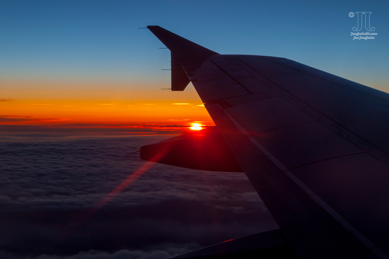
[[172, 91], [183, 91], [190, 82], [187, 74], [195, 71], [207, 57], [219, 54], [159, 26], [147, 28], [170, 50]]

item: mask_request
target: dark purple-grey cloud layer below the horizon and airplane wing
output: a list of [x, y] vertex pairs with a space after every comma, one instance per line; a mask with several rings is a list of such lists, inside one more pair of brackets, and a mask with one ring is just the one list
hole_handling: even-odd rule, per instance
[[136, 151], [166, 136], [0, 142], [0, 256], [166, 258], [274, 228], [243, 173], [155, 164], [95, 214], [144, 165]]

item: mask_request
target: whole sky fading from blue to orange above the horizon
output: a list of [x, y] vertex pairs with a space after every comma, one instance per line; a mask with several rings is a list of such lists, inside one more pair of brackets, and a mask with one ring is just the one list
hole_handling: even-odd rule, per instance
[[[161, 90], [170, 51], [147, 25], [389, 92], [388, 11], [387, 1], [1, 1], [0, 123], [212, 124], [191, 84]], [[375, 39], [352, 40], [349, 12], [372, 12]]]

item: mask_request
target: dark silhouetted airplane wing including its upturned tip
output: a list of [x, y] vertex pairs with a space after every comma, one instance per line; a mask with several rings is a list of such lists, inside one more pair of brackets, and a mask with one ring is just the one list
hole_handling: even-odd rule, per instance
[[[290, 59], [221, 55], [147, 28], [171, 51], [172, 90], [193, 83], [216, 124], [211, 135], [221, 136], [214, 146], [245, 172], [291, 254], [389, 258], [389, 94]], [[188, 143], [219, 153], [198, 139], [144, 146], [141, 158], [170, 143], [163, 163], [208, 170], [215, 158], [182, 162]]]

